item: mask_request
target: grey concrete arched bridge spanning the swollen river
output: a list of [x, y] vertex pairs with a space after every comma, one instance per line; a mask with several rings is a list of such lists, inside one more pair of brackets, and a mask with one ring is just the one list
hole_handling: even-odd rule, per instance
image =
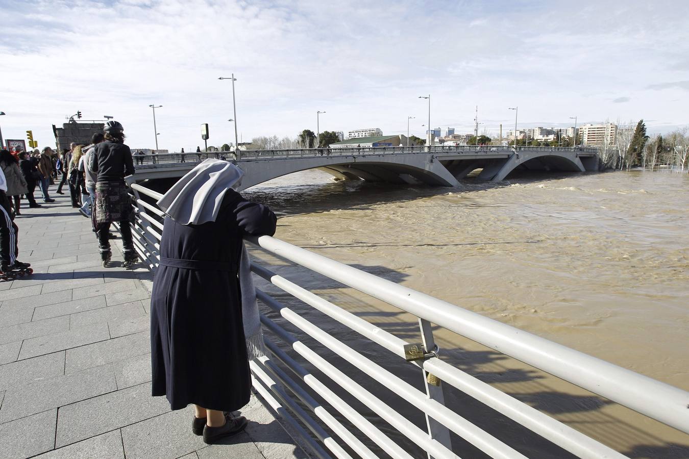
[[206, 158], [235, 162], [245, 178], [242, 189], [282, 175], [320, 169], [340, 180], [457, 186], [481, 169], [480, 180], [499, 182], [515, 169], [597, 171], [597, 149], [590, 147], [374, 147], [342, 149], [247, 150], [166, 153], [139, 158], [134, 182], [178, 178]]

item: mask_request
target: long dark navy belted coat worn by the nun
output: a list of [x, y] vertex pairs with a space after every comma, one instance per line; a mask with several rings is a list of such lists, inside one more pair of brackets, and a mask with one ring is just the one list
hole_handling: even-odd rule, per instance
[[165, 218], [151, 297], [154, 396], [172, 409], [194, 403], [235, 411], [251, 376], [237, 277], [245, 235], [273, 235], [275, 214], [228, 190], [216, 222]]

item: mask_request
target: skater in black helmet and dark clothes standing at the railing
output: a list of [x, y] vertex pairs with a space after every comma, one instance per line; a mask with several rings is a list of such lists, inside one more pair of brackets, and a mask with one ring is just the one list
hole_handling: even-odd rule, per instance
[[137, 256], [132, 242], [132, 203], [125, 176], [134, 173], [132, 150], [124, 144], [124, 128], [118, 121], [108, 121], [103, 128], [105, 142], [94, 147], [89, 156], [88, 167], [96, 175], [96, 201], [93, 220], [98, 236], [99, 251], [103, 266], [110, 266], [110, 224], [118, 222], [122, 234], [124, 266], [136, 262]]

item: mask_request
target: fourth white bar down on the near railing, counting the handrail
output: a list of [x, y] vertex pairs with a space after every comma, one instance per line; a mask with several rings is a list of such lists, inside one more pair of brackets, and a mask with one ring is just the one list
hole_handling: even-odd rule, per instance
[[307, 345], [292, 337], [289, 332], [280, 327], [280, 325], [274, 321], [271, 321], [271, 319], [268, 319], [265, 314], [260, 314], [260, 321], [269, 330], [271, 330], [271, 332], [282, 339], [282, 341], [290, 344], [292, 349], [306, 359], [307, 362], [318, 368], [318, 370], [325, 374], [325, 376], [328, 376], [335, 381], [338, 385], [340, 385], [340, 387], [342, 387], [342, 389], [345, 389], [347, 392], [356, 397], [358, 401], [367, 405], [369, 409], [378, 414], [378, 416], [389, 423], [389, 425], [395, 427], [395, 429], [400, 431], [400, 433], [402, 433], [404, 436], [407, 436], [409, 440], [415, 442], [415, 444], [424, 449], [424, 451], [431, 453], [433, 458], [453, 459], [457, 457], [454, 453], [449, 451], [449, 449], [441, 445], [440, 442], [429, 438], [429, 435], [426, 431], [422, 431], [413, 425], [409, 419], [396, 412], [394, 409], [389, 407], [389, 405], [381, 401], [380, 398], [371, 394], [371, 392], [369, 392], [367, 389], [364, 389], [364, 387], [362, 387], [359, 383], [347, 376], [327, 360], [323, 359], [320, 355], [316, 354], [316, 352], [313, 352], [311, 349], [309, 349]]

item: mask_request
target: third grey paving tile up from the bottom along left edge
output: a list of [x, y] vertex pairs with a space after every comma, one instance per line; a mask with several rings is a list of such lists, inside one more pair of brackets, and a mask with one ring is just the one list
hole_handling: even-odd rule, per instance
[[65, 372], [65, 351], [41, 355], [0, 366], [0, 390], [45, 381]]

